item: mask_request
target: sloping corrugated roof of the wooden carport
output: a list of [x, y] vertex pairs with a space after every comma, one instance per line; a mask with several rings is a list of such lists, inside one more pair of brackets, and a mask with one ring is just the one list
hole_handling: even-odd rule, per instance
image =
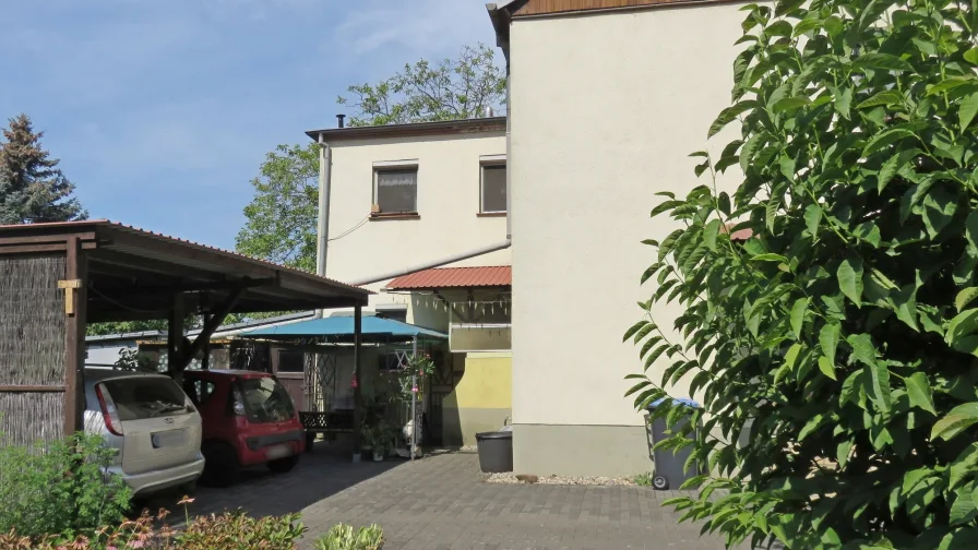
[[75, 241], [87, 263], [88, 322], [165, 319], [175, 296], [195, 312], [240, 291], [230, 311], [244, 313], [366, 306], [371, 294], [108, 220], [0, 226], [0, 255], [67, 251]]

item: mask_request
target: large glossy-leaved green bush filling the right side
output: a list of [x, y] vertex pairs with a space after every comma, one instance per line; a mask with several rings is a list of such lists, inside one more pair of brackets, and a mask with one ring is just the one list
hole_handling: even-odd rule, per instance
[[[687, 374], [703, 404], [654, 412], [676, 429], [659, 445], [707, 466], [669, 502], [731, 546], [978, 548], [978, 12], [746, 10], [735, 105], [708, 132], [742, 135], [694, 153], [713, 183], [659, 193], [679, 228], [646, 241], [657, 285], [625, 334], [637, 407]], [[652, 319], [667, 301], [675, 330]]]

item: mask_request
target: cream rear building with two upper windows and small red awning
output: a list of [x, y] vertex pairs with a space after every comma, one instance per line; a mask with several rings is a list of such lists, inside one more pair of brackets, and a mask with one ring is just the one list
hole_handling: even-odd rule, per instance
[[449, 336], [429, 404], [445, 444], [511, 416], [505, 128], [491, 117], [307, 132], [323, 151], [325, 275], [377, 292], [377, 315]]

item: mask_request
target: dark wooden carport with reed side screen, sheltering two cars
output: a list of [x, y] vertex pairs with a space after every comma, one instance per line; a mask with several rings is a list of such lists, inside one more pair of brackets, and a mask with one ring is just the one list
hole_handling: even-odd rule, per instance
[[[0, 432], [27, 444], [82, 428], [87, 323], [168, 320], [168, 369], [179, 375], [229, 313], [353, 308], [359, 356], [369, 295], [107, 220], [0, 226]], [[188, 315], [203, 318], [193, 340]]]

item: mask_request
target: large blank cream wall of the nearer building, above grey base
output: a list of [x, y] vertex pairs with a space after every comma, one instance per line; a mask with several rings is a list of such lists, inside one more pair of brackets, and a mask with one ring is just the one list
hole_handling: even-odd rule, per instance
[[[639, 286], [655, 254], [640, 241], [673, 228], [649, 219], [655, 192], [707, 182], [688, 155], [729, 105], [739, 8], [512, 24], [514, 423], [643, 425], [623, 398], [637, 349], [621, 343], [654, 291]], [[678, 313], [656, 309], [661, 326]]]

